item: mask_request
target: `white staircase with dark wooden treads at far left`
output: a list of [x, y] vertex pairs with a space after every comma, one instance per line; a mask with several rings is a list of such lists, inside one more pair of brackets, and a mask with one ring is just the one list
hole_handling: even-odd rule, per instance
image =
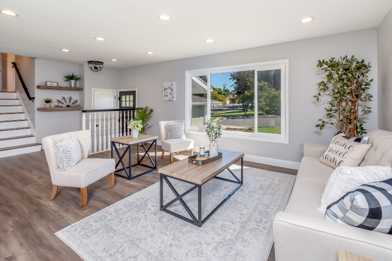
[[0, 158], [41, 150], [18, 92], [0, 92]]

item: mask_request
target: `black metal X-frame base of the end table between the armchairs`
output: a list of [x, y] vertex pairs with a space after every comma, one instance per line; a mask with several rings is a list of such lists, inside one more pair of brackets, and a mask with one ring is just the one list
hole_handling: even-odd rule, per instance
[[[152, 142], [151, 142], [151, 141], [152, 141]], [[148, 149], [147, 149], [146, 146], [144, 145], [145, 142], [151, 142], [151, 144], [150, 144], [150, 146], [148, 147]], [[114, 158], [113, 158], [113, 148], [116, 150], [117, 156], [119, 156], [119, 159], [120, 159], [120, 160], [117, 162], [115, 168], [117, 168], [117, 166], [119, 166], [120, 163], [123, 165], [123, 168], [121, 168], [121, 169], [116, 169], [116, 170], [114, 171], [114, 174], [117, 175], [117, 176], [123, 177], [123, 178], [125, 178], [125, 179], [131, 180], [131, 179], [140, 177], [140, 176], [142, 176], [142, 175], [144, 175], [144, 174], [147, 174], [147, 173], [149, 173], [149, 172], [151, 172], [151, 171], [156, 170], [156, 169], [157, 169], [157, 164], [156, 164], [156, 162], [157, 162], [157, 158], [156, 158], [156, 154], [157, 154], [157, 151], [156, 151], [156, 142], [157, 142], [157, 139], [148, 140], [148, 141], [144, 141], [144, 142], [138, 142], [138, 143], [134, 143], [134, 144], [124, 144], [124, 143], [121, 143], [121, 142], [111, 142], [111, 147], [112, 147], [112, 159], [114, 159]], [[122, 144], [122, 145], [127, 146], [126, 149], [125, 149], [125, 151], [124, 151], [124, 153], [123, 153], [123, 155], [120, 155], [120, 152], [119, 152], [119, 150], [118, 150], [117, 147], [116, 147], [116, 143], [117, 143], [117, 144]], [[148, 153], [148, 151], [150, 150], [150, 148], [152, 147], [152, 145], [153, 145], [154, 143], [155, 143], [155, 164], [154, 164], [154, 162], [152, 161], [150, 154]], [[140, 159], [140, 152], [139, 152], [139, 144], [142, 144], [142, 145], [143, 145], [143, 148], [144, 148], [144, 150], [145, 150], [145, 153], [144, 153], [144, 155], [143, 155], [143, 157], [142, 157], [141, 159]], [[131, 157], [132, 157], [132, 145], [137, 145], [137, 146], [138, 146], [138, 163], [136, 163], [136, 164], [134, 164], [134, 165], [132, 165], [132, 159], [131, 159]], [[123, 157], [124, 157], [125, 154], [128, 152], [128, 150], [129, 150], [129, 166], [125, 166], [125, 164], [124, 164], [124, 162], [123, 162]], [[146, 157], [146, 155], [148, 156], [150, 162], [152, 163], [152, 166], [148, 166], [148, 165], [145, 165], [145, 164], [142, 164], [142, 163], [141, 163], [141, 162], [143, 161], [143, 159]], [[132, 177], [132, 168], [131, 168], [131, 167], [133, 167], [133, 166], [138, 166], [138, 165], [139, 165], [139, 166], [145, 166], [145, 167], [148, 167], [148, 168], [151, 168], [151, 169]], [[129, 168], [129, 172], [128, 172], [127, 168]], [[122, 171], [122, 170], [125, 170], [126, 176], [116, 173], [116, 172], [119, 172], [119, 171]]]

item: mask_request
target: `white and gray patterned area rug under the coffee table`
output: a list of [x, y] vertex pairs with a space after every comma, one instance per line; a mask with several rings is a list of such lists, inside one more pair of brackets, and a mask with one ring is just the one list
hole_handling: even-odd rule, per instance
[[[241, 169], [234, 168], [241, 177]], [[231, 175], [225, 170], [220, 176]], [[284, 210], [294, 180], [293, 175], [245, 168], [244, 185], [201, 228], [160, 211], [156, 183], [56, 235], [86, 261], [266, 261], [272, 219]], [[192, 186], [170, 181], [180, 194]], [[235, 187], [218, 179], [203, 185], [203, 218]], [[173, 198], [165, 184], [164, 204]], [[197, 189], [184, 201], [197, 217]], [[170, 210], [189, 216], [178, 201]]]

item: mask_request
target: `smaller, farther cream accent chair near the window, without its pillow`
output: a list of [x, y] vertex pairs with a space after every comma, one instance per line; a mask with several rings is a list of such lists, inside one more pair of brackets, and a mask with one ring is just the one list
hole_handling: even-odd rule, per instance
[[186, 139], [185, 134], [179, 139], [168, 139], [168, 123], [184, 123], [185, 120], [165, 120], [159, 121], [159, 132], [161, 135], [162, 145], [162, 157], [165, 155], [165, 151], [170, 153], [170, 164], [173, 163], [173, 153], [179, 154], [180, 151], [191, 150], [191, 156], [193, 155], [193, 141]]

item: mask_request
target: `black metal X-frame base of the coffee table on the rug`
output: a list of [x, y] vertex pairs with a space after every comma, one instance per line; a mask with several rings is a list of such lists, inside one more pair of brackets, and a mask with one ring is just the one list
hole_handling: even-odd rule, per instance
[[[218, 175], [222, 171], [224, 171], [225, 169], [227, 169], [234, 176], [234, 178], [236, 180], [231, 180], [231, 179], [218, 177]], [[166, 212], [168, 214], [171, 214], [171, 215], [173, 215], [175, 217], [178, 217], [178, 218], [180, 218], [180, 219], [182, 219], [184, 221], [187, 221], [187, 222], [189, 222], [189, 223], [191, 223], [191, 224], [193, 224], [193, 225], [195, 225], [197, 227], [201, 227], [234, 194], [234, 192], [236, 192], [244, 184], [244, 157], [241, 158], [241, 180], [233, 173], [233, 171], [231, 171], [231, 169], [229, 167], [227, 167], [225, 169], [223, 169], [221, 172], [219, 172], [216, 176], [212, 177], [211, 179], [213, 179], [213, 178], [221, 179], [221, 180], [228, 181], [228, 182], [233, 182], [233, 183], [236, 183], [236, 184], [239, 184], [239, 185], [233, 191], [231, 191], [223, 199], [223, 201], [221, 203], [219, 203], [219, 205], [213, 211], [210, 212], [210, 214], [208, 214], [206, 217], [204, 217], [204, 219], [201, 219], [201, 186], [206, 184], [208, 181], [206, 181], [205, 183], [200, 185], [200, 184], [196, 184], [196, 183], [193, 183], [193, 182], [189, 182], [189, 181], [186, 181], [186, 180], [183, 180], [183, 179], [175, 178], [175, 177], [172, 177], [172, 176], [160, 173], [160, 182], [159, 182], [159, 184], [160, 184], [160, 188], [159, 188], [159, 190], [160, 190], [160, 192], [159, 192], [159, 200], [160, 200], [159, 207], [160, 207], [160, 210], [163, 211], [163, 212]], [[194, 185], [194, 187], [192, 187], [191, 189], [185, 191], [184, 193], [182, 193], [180, 195], [177, 192], [177, 190], [174, 189], [174, 187], [173, 187], [172, 183], [169, 181], [168, 177], [172, 178], [172, 179], [179, 180], [179, 181], [183, 181], [183, 182], [186, 182], [186, 183], [189, 183], [189, 184], [192, 184], [192, 185]], [[164, 180], [168, 184], [169, 188], [173, 191], [174, 195], [176, 196], [173, 200], [171, 200], [169, 203], [167, 203], [165, 205], [163, 205], [163, 181]], [[182, 199], [185, 195], [187, 195], [188, 193], [192, 192], [195, 189], [198, 190], [198, 192], [197, 192], [197, 218], [192, 213], [192, 211], [189, 209], [189, 207], [184, 202], [184, 200]], [[185, 217], [183, 215], [174, 213], [174, 212], [172, 212], [172, 211], [167, 209], [169, 206], [171, 206], [176, 201], [180, 201], [181, 205], [184, 207], [184, 209], [187, 211], [187, 213], [191, 216], [192, 219], [190, 219], [188, 217]]]

